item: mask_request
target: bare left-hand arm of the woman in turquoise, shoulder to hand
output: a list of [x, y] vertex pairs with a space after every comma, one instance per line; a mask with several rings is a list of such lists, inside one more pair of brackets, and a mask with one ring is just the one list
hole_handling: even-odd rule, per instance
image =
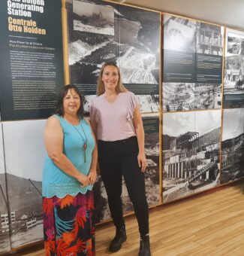
[[77, 181], [86, 187], [89, 184], [86, 175], [80, 173], [71, 163], [71, 160], [63, 154], [63, 139], [64, 134], [58, 118], [54, 116], [48, 118], [44, 130], [44, 142], [48, 156], [59, 169], [76, 178]]

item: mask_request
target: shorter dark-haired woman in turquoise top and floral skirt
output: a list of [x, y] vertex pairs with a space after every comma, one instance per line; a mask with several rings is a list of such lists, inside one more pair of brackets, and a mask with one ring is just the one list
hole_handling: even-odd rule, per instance
[[47, 157], [43, 171], [46, 255], [95, 255], [92, 186], [97, 148], [83, 103], [73, 85], [62, 88], [56, 114], [44, 131]]

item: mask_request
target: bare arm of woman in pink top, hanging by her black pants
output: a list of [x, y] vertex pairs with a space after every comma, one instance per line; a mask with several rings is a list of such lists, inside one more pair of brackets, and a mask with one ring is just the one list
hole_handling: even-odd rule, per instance
[[140, 107], [137, 106], [137, 108], [134, 109], [134, 115], [133, 115], [133, 124], [134, 129], [137, 134], [137, 142], [139, 147], [139, 154], [137, 156], [138, 165], [141, 167], [141, 171], [145, 172], [146, 170], [146, 155], [145, 155], [145, 148], [144, 148], [144, 129], [143, 129], [143, 120], [140, 115]]

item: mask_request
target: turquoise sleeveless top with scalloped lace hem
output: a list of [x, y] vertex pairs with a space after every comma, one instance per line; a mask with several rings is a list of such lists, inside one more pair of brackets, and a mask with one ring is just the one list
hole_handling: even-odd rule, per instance
[[[56, 115], [59, 118], [62, 130], [64, 132], [63, 153], [71, 160], [71, 163], [82, 172], [88, 175], [92, 162], [92, 151], [95, 148], [95, 141], [92, 136], [92, 130], [86, 120], [80, 120], [83, 130], [86, 133], [87, 148], [86, 148], [86, 163], [84, 162], [83, 139], [85, 139], [80, 123], [75, 127], [68, 123], [63, 117]], [[79, 131], [79, 133], [78, 133]], [[66, 195], [76, 196], [78, 193], [86, 194], [87, 190], [92, 190], [92, 185], [80, 187], [80, 182], [76, 178], [63, 172], [57, 167], [53, 160], [46, 155], [43, 169], [42, 180], [42, 195], [43, 197], [65, 197]]]

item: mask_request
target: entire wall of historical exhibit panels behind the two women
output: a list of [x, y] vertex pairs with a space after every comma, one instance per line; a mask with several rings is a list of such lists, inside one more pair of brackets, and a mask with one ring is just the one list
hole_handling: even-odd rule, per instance
[[[28, 12], [15, 2], [0, 3], [0, 254], [43, 240], [46, 120], [38, 118], [52, 114], [64, 84], [62, 50], [85, 111], [104, 62], [116, 62], [137, 95], [149, 207], [244, 177], [244, 32], [226, 29], [223, 73], [223, 26], [99, 0], [41, 0]], [[94, 198], [96, 223], [110, 221], [100, 175]], [[125, 215], [133, 212], [125, 181], [122, 203]]]

